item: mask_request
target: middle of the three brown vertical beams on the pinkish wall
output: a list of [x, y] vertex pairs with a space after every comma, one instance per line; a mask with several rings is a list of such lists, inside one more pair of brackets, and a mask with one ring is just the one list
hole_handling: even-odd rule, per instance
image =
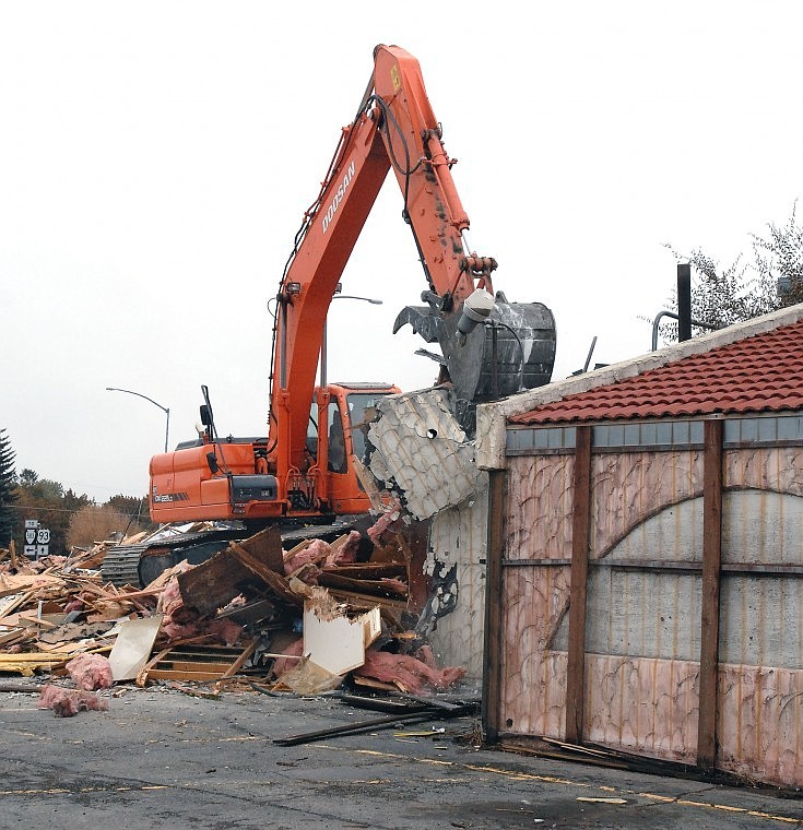
[[591, 532], [591, 427], [577, 427], [572, 481], [569, 653], [566, 673], [566, 740], [582, 740], [586, 695], [586, 595]]

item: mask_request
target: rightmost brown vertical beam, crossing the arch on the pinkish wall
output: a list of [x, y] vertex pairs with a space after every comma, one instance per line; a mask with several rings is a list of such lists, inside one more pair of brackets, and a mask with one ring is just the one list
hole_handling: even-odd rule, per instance
[[717, 760], [719, 606], [722, 565], [722, 420], [706, 420], [702, 469], [702, 601], [697, 763]]

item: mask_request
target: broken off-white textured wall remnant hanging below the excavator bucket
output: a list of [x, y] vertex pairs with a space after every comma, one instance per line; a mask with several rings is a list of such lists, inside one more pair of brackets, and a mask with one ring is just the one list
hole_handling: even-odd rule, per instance
[[368, 467], [416, 520], [432, 520], [425, 572], [433, 590], [422, 633], [445, 665], [481, 683], [485, 630], [488, 475], [456, 420], [453, 393], [432, 389], [385, 398], [368, 430]]

